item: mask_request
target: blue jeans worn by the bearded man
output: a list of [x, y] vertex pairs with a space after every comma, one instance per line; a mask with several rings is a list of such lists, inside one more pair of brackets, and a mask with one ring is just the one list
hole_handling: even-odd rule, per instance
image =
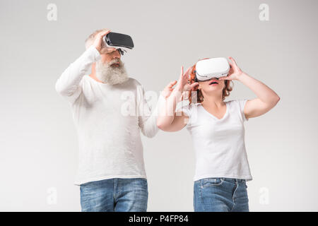
[[81, 184], [83, 212], [146, 212], [148, 182], [143, 178], [114, 178]]

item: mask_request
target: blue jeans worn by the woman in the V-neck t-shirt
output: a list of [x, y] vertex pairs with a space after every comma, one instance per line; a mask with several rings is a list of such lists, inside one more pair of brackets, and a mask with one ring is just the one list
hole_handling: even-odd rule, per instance
[[249, 212], [245, 179], [204, 178], [194, 182], [195, 212]]

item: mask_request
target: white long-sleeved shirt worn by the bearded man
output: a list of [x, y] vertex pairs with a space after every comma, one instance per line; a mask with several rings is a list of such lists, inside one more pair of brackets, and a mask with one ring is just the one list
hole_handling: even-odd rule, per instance
[[146, 178], [140, 131], [148, 137], [158, 132], [158, 107], [151, 114], [138, 81], [129, 78], [109, 85], [86, 75], [99, 59], [98, 50], [90, 47], [55, 86], [71, 105], [78, 133], [76, 185], [116, 177]]

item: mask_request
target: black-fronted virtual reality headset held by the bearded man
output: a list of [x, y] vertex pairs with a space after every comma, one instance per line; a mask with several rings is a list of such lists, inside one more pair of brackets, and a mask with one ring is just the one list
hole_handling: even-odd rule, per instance
[[106, 47], [116, 48], [122, 55], [124, 55], [124, 52], [127, 52], [129, 49], [134, 48], [134, 42], [129, 35], [109, 32], [102, 38], [102, 40]]

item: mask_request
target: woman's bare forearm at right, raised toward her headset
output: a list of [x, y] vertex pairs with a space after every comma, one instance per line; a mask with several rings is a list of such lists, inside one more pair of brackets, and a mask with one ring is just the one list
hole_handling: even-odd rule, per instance
[[261, 81], [247, 75], [247, 73], [243, 72], [240, 76], [238, 76], [238, 81], [247, 85], [247, 87], [250, 88], [262, 102], [272, 105], [274, 103], [276, 104], [276, 102], [280, 99], [280, 97], [271, 90], [271, 88]]

